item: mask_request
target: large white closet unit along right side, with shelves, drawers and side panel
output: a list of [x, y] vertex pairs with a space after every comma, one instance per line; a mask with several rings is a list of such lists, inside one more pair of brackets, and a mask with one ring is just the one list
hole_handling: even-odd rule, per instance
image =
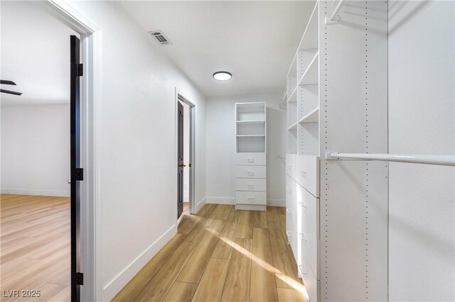
[[387, 153], [387, 1], [345, 2], [287, 74], [287, 236], [309, 301], [387, 301], [387, 164], [325, 157]]

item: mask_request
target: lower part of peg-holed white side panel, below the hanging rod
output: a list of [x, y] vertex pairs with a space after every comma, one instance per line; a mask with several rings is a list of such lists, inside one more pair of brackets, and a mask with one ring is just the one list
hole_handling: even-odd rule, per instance
[[321, 161], [321, 301], [387, 301], [388, 169], [366, 164]]

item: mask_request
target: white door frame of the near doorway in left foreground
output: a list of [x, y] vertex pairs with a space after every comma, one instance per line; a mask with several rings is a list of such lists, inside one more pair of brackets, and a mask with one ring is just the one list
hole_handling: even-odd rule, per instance
[[101, 279], [101, 108], [102, 108], [102, 30], [63, 0], [42, 0], [39, 4], [59, 21], [80, 35], [80, 55], [84, 77], [80, 89], [81, 165], [84, 181], [80, 195], [80, 286], [81, 301], [103, 301]]

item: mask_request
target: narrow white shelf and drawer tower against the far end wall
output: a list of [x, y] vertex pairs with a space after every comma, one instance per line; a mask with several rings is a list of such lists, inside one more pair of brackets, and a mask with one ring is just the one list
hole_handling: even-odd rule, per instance
[[235, 208], [266, 211], [267, 107], [265, 102], [235, 104]]

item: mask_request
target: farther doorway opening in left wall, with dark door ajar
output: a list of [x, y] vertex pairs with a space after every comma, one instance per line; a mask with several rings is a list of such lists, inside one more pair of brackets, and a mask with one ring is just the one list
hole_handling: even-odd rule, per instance
[[194, 104], [176, 94], [177, 104], [177, 219], [194, 213]]

